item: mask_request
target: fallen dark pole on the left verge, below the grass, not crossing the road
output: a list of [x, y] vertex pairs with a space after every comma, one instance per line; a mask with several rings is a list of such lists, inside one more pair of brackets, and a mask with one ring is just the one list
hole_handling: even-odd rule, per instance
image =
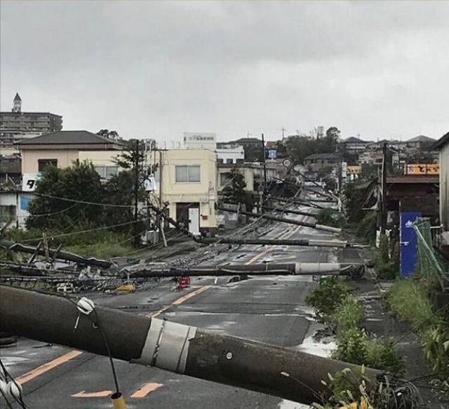
[[[46, 255], [46, 250], [40, 246], [25, 246], [21, 243], [13, 243], [12, 241], [0, 241], [0, 248], [5, 250], [11, 250], [20, 253], [30, 253], [34, 255]], [[67, 251], [60, 251], [58, 249], [48, 248], [48, 255], [53, 257], [53, 259], [58, 258], [59, 260], [66, 260], [71, 262], [76, 262], [78, 264], [85, 264], [94, 267], [101, 267], [103, 269], [109, 269], [112, 266], [112, 262], [108, 260], [102, 260], [96, 257], [83, 257], [75, 253], [69, 253]]]

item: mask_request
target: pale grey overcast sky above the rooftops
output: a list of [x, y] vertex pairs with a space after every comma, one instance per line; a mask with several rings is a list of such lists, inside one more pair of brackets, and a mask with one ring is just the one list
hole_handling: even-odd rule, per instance
[[1, 110], [124, 138], [449, 130], [449, 2], [1, 1]]

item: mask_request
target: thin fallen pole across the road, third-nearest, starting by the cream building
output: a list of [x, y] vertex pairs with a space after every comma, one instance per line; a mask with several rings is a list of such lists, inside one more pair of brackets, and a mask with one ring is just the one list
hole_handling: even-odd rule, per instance
[[341, 240], [314, 240], [314, 239], [255, 239], [244, 237], [210, 237], [201, 239], [201, 243], [224, 243], [224, 244], [260, 244], [267, 246], [309, 246], [309, 247], [352, 247], [363, 248], [360, 244], [348, 243]]

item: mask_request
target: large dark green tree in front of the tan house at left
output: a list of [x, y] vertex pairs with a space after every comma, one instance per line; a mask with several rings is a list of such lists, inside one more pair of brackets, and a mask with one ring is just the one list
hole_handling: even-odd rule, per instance
[[[76, 225], [96, 226], [102, 222], [101, 207], [76, 203], [101, 203], [104, 199], [104, 187], [91, 163], [75, 161], [65, 169], [47, 166], [34, 192], [37, 197], [29, 204], [27, 229], [72, 229]], [[58, 197], [73, 201], [55, 199]]]

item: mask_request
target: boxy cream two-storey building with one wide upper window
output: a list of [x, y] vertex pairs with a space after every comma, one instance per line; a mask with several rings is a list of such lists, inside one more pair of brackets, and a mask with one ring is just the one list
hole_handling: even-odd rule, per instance
[[[156, 173], [156, 191], [168, 203], [170, 217], [194, 234], [214, 234], [217, 229], [216, 154], [210, 149], [170, 149], [152, 152], [151, 163], [162, 168]], [[161, 189], [161, 192], [159, 192]]]

